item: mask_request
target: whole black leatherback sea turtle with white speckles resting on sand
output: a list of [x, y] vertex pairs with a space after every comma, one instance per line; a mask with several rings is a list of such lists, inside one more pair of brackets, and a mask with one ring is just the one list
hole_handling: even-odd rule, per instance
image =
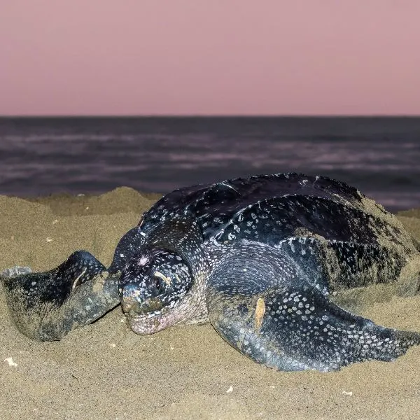
[[251, 176], [175, 190], [120, 239], [106, 269], [76, 251], [49, 272], [3, 272], [23, 334], [61, 339], [121, 302], [151, 334], [210, 321], [235, 349], [279, 370], [393, 360], [418, 332], [354, 314], [370, 297], [415, 295], [419, 244], [381, 206], [323, 176]]

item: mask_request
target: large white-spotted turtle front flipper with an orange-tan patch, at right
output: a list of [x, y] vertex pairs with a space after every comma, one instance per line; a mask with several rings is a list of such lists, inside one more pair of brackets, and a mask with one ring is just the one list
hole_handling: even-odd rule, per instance
[[256, 257], [222, 263], [207, 289], [214, 328], [256, 362], [325, 372], [363, 360], [393, 360], [420, 344], [419, 333], [384, 328], [344, 311], [286, 259]]

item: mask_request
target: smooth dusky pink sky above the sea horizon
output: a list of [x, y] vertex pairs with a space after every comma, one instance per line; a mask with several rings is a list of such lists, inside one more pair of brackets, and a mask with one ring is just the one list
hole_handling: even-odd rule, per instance
[[419, 0], [10, 0], [0, 115], [420, 114]]

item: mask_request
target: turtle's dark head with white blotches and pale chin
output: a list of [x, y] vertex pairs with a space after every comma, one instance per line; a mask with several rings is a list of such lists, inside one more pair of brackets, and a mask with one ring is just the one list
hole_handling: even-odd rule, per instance
[[119, 283], [130, 328], [152, 334], [188, 318], [193, 284], [190, 267], [174, 251], [154, 248], [134, 255]]

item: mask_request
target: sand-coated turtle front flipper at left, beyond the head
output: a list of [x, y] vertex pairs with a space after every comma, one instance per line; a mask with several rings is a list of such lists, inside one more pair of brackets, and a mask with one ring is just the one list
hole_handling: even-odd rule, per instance
[[87, 251], [76, 251], [48, 272], [6, 269], [0, 274], [10, 315], [32, 339], [61, 339], [120, 302], [118, 279]]

